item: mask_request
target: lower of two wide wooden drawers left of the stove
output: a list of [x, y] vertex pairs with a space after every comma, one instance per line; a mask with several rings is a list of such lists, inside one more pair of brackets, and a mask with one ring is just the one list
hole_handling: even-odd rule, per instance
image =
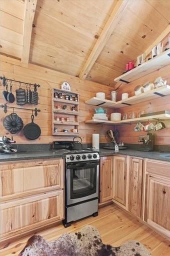
[[59, 219], [63, 219], [63, 190], [2, 203], [0, 238], [5, 233], [27, 231]]

